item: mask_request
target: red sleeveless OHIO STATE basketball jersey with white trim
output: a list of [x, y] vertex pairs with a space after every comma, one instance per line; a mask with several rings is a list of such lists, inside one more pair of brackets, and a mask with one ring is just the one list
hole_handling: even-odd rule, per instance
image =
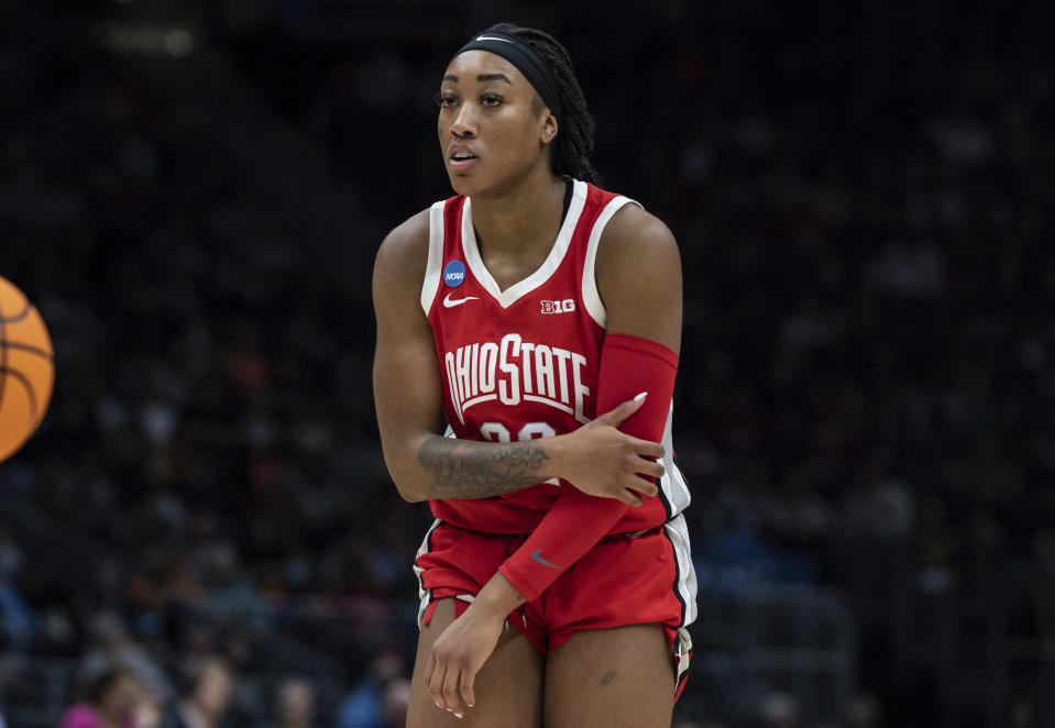
[[[506, 290], [481, 258], [471, 199], [458, 196], [432, 206], [421, 307], [436, 339], [452, 437], [524, 441], [571, 432], [596, 416], [605, 309], [594, 262], [605, 224], [628, 202], [575, 180], [549, 256]], [[629, 509], [613, 532], [659, 526], [689, 505], [672, 459], [670, 424], [668, 419], [660, 496]], [[430, 504], [437, 518], [461, 528], [527, 533], [560, 487], [574, 486], [552, 481], [492, 498]]]

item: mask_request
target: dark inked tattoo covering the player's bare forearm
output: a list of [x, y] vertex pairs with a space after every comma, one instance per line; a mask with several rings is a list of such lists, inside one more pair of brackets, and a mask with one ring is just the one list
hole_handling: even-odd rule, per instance
[[418, 451], [418, 461], [431, 473], [432, 498], [487, 498], [540, 483], [549, 460], [537, 441], [466, 442], [431, 438]]

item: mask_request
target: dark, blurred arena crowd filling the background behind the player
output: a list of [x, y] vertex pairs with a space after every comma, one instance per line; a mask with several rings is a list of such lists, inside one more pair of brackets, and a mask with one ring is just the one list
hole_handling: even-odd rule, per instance
[[[431, 98], [492, 16], [364, 5], [387, 32], [342, 37], [288, 5], [183, 3], [178, 53], [0, 8], [0, 275], [58, 372], [0, 465], [0, 716], [45, 655], [108, 725], [402, 725], [430, 518], [380, 455], [370, 271], [449, 194]], [[681, 244], [702, 594], [836, 587], [862, 691], [838, 725], [1055, 725], [1051, 9], [649, 8], [539, 23], [606, 186]], [[240, 697], [272, 649], [246, 618], [340, 661], [325, 710], [304, 675]], [[683, 705], [716, 705], [706, 677]], [[773, 693], [754, 719], [798, 715]]]

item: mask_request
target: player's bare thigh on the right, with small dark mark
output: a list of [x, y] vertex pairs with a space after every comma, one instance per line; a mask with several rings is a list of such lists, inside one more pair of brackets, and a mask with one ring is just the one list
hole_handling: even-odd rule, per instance
[[546, 728], [670, 728], [673, 705], [659, 625], [583, 630], [546, 660]]

